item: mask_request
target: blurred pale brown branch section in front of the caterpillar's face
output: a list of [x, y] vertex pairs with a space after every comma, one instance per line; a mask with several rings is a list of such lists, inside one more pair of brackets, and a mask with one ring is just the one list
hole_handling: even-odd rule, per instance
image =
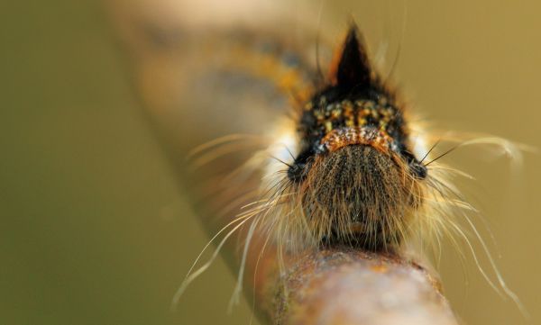
[[256, 290], [272, 323], [457, 324], [436, 279], [398, 256], [321, 249], [290, 260], [274, 285], [276, 268], [271, 261], [266, 267]]

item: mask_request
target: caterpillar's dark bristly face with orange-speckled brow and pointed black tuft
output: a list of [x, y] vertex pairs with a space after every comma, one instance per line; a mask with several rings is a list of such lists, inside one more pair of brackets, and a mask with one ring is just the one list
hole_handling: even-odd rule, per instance
[[383, 248], [405, 236], [426, 167], [409, 148], [395, 95], [372, 71], [355, 26], [331, 83], [304, 106], [288, 177], [316, 240]]

